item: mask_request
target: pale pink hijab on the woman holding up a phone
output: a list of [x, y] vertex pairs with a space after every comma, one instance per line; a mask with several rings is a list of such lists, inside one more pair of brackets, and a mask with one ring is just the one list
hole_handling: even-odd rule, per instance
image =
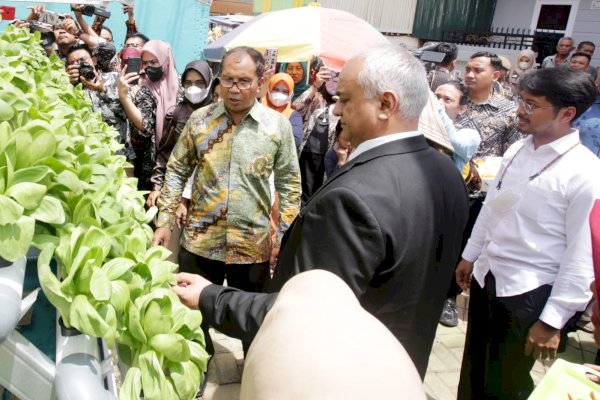
[[150, 40], [142, 48], [142, 53], [144, 52], [156, 57], [163, 70], [163, 76], [158, 82], [152, 82], [147, 77], [143, 80], [143, 85], [147, 86], [156, 98], [156, 143], [160, 143], [165, 115], [177, 104], [179, 76], [175, 69], [173, 50], [167, 42]]

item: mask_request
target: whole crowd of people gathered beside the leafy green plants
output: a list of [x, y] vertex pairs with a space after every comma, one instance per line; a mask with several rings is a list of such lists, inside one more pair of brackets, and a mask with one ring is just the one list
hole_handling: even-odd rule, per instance
[[[137, 31], [132, 6], [120, 51], [73, 9], [47, 51], [119, 132], [160, 211], [153, 244], [178, 254], [174, 290], [205, 329], [248, 351], [286, 282], [323, 269], [423, 379], [438, 322], [458, 324], [456, 297], [469, 290], [459, 399], [526, 399], [535, 359], [554, 357], [570, 329], [593, 329], [592, 42], [563, 37], [539, 68], [532, 50], [512, 62], [477, 52], [464, 81], [451, 43], [437, 45], [444, 57], [429, 71], [397, 45], [342, 71], [319, 57], [267, 71], [258, 51], [238, 47], [217, 76], [205, 61], [179, 75], [169, 44]], [[423, 134], [436, 130], [445, 139]], [[500, 168], [486, 179], [491, 158]]]

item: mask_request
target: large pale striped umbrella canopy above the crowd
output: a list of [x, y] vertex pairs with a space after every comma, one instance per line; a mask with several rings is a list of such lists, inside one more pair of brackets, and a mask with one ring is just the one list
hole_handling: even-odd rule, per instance
[[204, 57], [220, 61], [237, 46], [249, 46], [264, 53], [277, 48], [278, 62], [309, 61], [319, 56], [333, 69], [363, 50], [389, 44], [368, 22], [346, 11], [319, 6], [291, 8], [264, 13], [238, 26], [204, 48]]

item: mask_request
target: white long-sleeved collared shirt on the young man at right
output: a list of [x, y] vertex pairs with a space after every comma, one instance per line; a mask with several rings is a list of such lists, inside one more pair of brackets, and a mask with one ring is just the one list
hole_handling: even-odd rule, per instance
[[573, 130], [538, 149], [532, 136], [513, 144], [462, 255], [477, 260], [473, 277], [480, 286], [492, 272], [499, 297], [553, 285], [540, 320], [555, 328], [585, 309], [594, 278], [589, 216], [600, 198], [600, 160], [577, 143]]

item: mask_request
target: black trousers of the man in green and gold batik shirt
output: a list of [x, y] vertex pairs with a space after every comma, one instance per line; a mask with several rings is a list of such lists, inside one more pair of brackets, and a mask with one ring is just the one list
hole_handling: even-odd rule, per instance
[[[214, 284], [222, 285], [227, 278], [227, 285], [246, 292], [264, 292], [271, 281], [269, 262], [253, 264], [225, 264], [222, 261], [210, 260], [196, 255], [183, 247], [179, 251], [179, 272], [198, 274]], [[214, 354], [214, 345], [208, 333], [208, 323], [202, 321], [202, 330], [206, 340], [206, 351]], [[244, 353], [251, 342], [242, 341]]]

